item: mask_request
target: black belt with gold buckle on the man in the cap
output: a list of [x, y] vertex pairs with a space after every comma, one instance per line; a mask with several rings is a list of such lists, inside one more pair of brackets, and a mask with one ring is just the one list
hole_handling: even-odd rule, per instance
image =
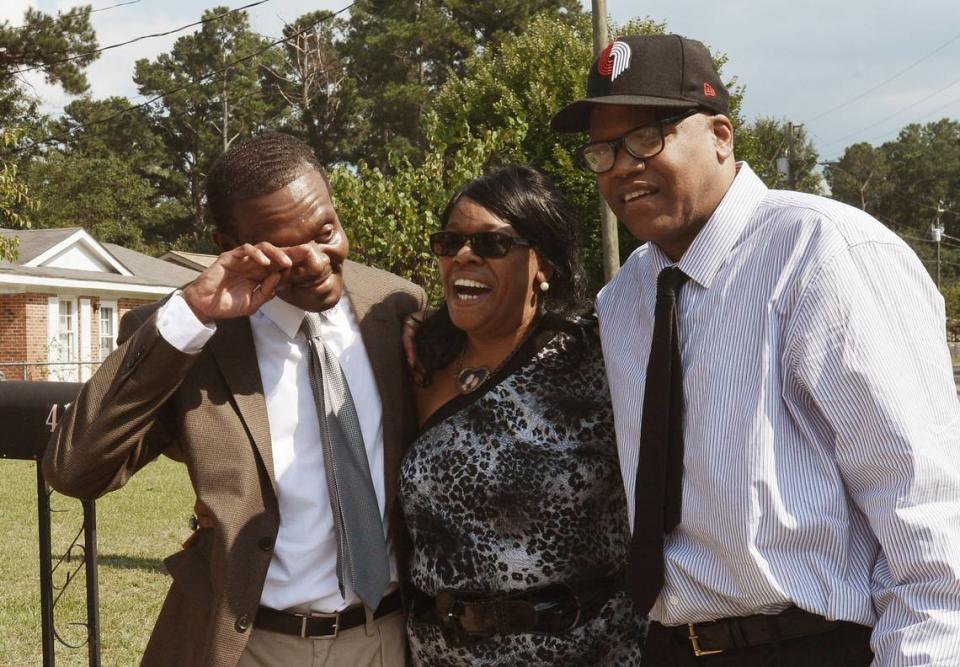
[[847, 621], [829, 621], [823, 616], [798, 607], [790, 607], [779, 614], [724, 618], [719, 621], [689, 623], [677, 627], [664, 627], [658, 623], [654, 626], [669, 631], [676, 641], [686, 643], [693, 651], [693, 655], [699, 658], [731, 649], [811, 637], [843, 626], [856, 626], [856, 624]]

